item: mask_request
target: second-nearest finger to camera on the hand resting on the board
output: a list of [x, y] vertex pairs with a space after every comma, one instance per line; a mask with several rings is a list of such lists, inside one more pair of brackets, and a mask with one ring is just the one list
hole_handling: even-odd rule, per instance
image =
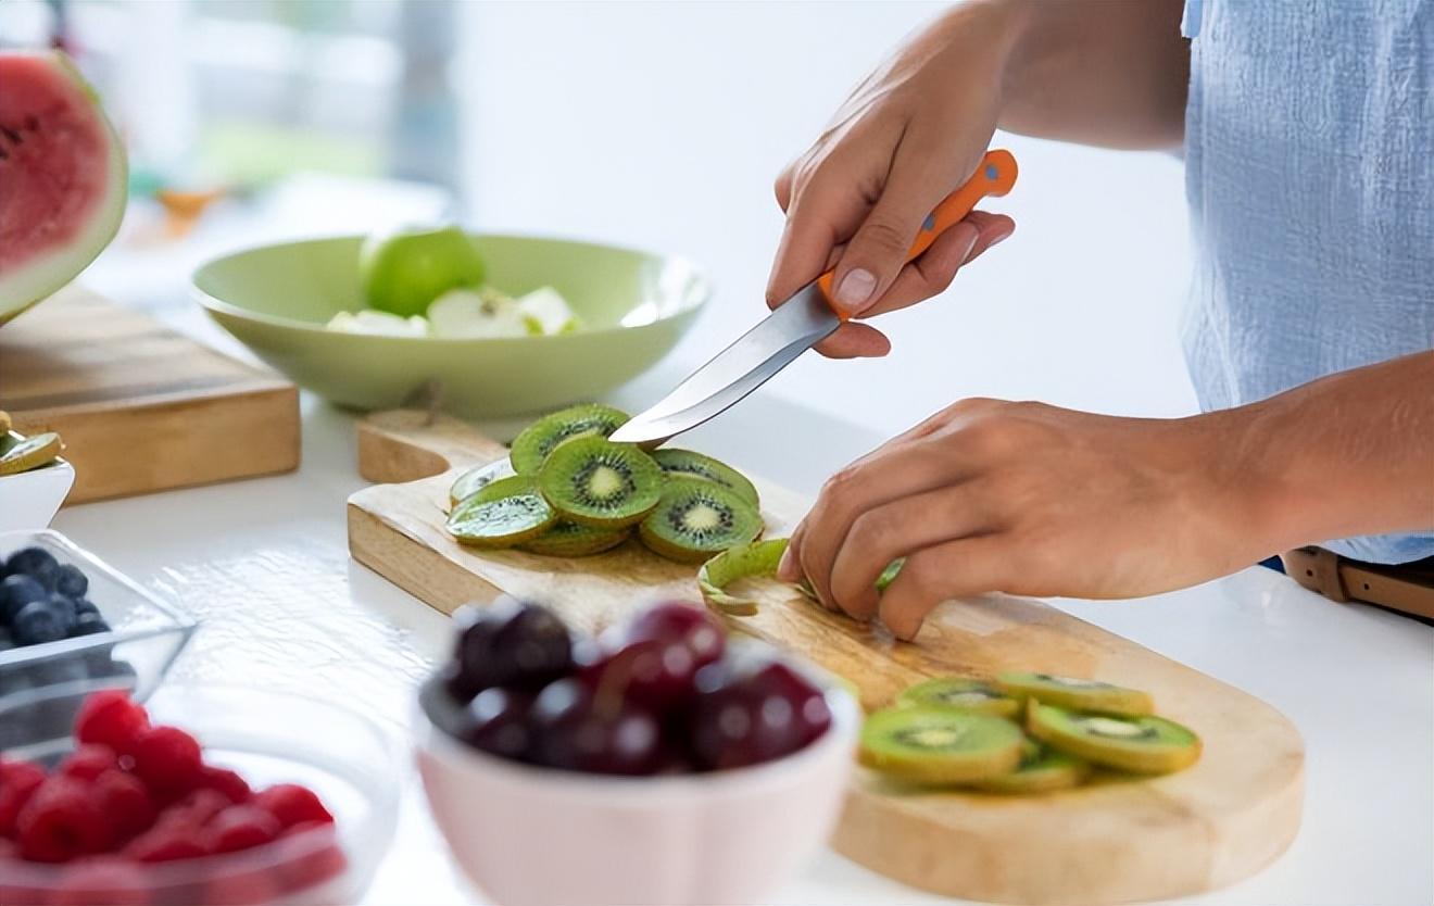
[[856, 619], [876, 616], [876, 579], [913, 550], [994, 529], [971, 482], [912, 495], [868, 510], [852, 522], [832, 562], [832, 602]]

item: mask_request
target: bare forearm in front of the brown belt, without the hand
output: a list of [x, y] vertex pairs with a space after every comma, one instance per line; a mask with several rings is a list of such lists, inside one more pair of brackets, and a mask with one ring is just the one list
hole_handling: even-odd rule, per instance
[[1271, 552], [1434, 529], [1434, 351], [1334, 374], [1228, 416], [1229, 483]]

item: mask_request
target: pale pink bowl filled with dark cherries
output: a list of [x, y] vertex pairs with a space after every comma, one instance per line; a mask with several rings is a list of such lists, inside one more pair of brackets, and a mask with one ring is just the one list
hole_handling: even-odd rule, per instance
[[419, 707], [419, 773], [459, 866], [498, 903], [756, 903], [836, 826], [860, 711], [830, 684], [826, 700], [832, 727], [786, 758], [660, 777], [505, 761], [453, 740]]

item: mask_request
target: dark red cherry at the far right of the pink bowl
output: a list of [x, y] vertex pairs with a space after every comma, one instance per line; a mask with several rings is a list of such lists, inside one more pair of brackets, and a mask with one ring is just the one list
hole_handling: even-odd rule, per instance
[[713, 664], [697, 675], [688, 731], [700, 768], [771, 761], [807, 745], [832, 724], [820, 690], [780, 662], [753, 671]]

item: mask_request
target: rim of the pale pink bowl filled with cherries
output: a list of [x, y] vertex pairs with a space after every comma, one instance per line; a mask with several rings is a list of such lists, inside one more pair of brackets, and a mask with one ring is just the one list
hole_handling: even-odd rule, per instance
[[585, 774], [511, 761], [466, 745], [433, 723], [433, 718], [429, 717], [427, 710], [423, 707], [422, 691], [439, 682], [439, 674], [433, 674], [426, 680], [420, 687], [420, 695], [414, 697], [412, 720], [416, 748], [420, 754], [433, 755], [446, 764], [482, 770], [518, 786], [541, 786], [575, 796], [614, 796], [617, 801], [622, 803], [631, 803], [632, 797], [641, 797], [642, 801], [675, 797], [690, 798], [694, 796], [714, 797], [750, 787], [790, 786], [807, 767], [830, 757], [833, 750], [842, 751], [846, 758], [855, 763], [856, 734], [862, 723], [862, 708], [856, 697], [837, 681], [827, 678], [822, 671], [794, 658], [789, 652], [783, 651], [780, 661], [817, 681], [823, 698], [826, 698], [827, 708], [832, 712], [832, 724], [826, 733], [812, 743], [774, 761], [720, 771], [651, 774], [641, 777]]

